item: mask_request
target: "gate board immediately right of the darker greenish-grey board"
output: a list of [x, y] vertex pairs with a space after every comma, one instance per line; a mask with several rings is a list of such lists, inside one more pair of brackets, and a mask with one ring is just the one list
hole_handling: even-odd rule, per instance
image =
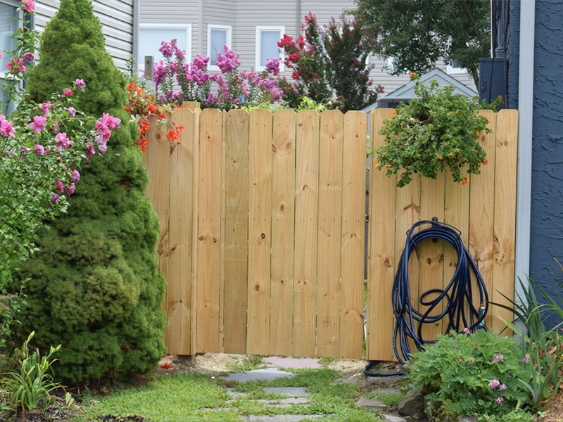
[[246, 340], [246, 352], [249, 354], [268, 354], [270, 343], [272, 129], [270, 110], [254, 110], [251, 113]]

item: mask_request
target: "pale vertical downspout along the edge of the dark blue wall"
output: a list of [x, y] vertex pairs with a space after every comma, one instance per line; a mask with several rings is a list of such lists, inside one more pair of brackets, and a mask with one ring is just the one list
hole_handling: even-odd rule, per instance
[[[532, 178], [533, 59], [536, 0], [520, 1], [520, 51], [518, 77], [518, 167], [516, 200], [516, 250], [514, 298], [525, 298], [530, 274], [530, 219]], [[520, 326], [522, 328], [523, 326]]]

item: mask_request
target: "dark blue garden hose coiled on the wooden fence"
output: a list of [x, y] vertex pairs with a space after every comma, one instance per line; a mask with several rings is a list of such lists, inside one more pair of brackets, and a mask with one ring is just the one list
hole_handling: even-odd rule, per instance
[[[416, 231], [419, 226], [431, 226], [420, 231]], [[423, 220], [415, 223], [407, 232], [405, 250], [399, 260], [397, 273], [393, 280], [393, 314], [396, 322], [393, 329], [393, 351], [402, 365], [410, 360], [411, 347], [409, 340], [412, 340], [417, 350], [423, 350], [424, 345], [436, 343], [436, 339], [425, 340], [422, 337], [422, 327], [424, 324], [435, 324], [441, 319], [448, 321], [445, 333], [455, 331], [456, 333], [475, 331], [477, 328], [486, 329], [484, 319], [488, 311], [488, 294], [483, 281], [483, 277], [477, 269], [467, 248], [461, 240], [461, 233], [450, 224]], [[431, 288], [420, 295], [420, 305], [426, 307], [424, 312], [419, 311], [411, 302], [410, 281], [408, 274], [408, 264], [410, 255], [416, 250], [417, 245], [427, 239], [441, 239], [453, 246], [457, 252], [457, 268], [447, 286], [444, 288]], [[479, 308], [474, 305], [474, 287], [472, 286], [471, 270], [476, 277], [476, 290], [479, 293]], [[428, 299], [429, 295], [437, 295], [434, 299]], [[439, 313], [436, 310], [443, 310]], [[466, 330], [467, 328], [467, 330]], [[369, 369], [376, 362], [370, 362], [365, 367], [367, 376], [391, 376], [403, 373], [372, 373]]]

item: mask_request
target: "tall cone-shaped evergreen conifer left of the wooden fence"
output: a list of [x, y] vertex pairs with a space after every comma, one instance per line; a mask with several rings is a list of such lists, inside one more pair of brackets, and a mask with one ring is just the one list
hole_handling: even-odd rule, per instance
[[46, 101], [81, 78], [82, 110], [110, 113], [121, 126], [104, 157], [82, 167], [68, 214], [42, 231], [40, 251], [25, 264], [23, 333], [35, 331], [42, 349], [62, 345], [55, 369], [63, 381], [142, 373], [166, 351], [165, 281], [154, 252], [158, 218], [144, 196], [148, 178], [124, 109], [125, 77], [106, 52], [89, 0], [62, 0], [43, 41], [27, 84], [32, 98]]

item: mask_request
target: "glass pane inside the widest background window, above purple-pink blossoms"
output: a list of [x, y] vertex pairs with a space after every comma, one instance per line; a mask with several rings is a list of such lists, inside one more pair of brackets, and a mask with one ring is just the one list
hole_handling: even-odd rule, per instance
[[[139, 71], [144, 72], [145, 56], [153, 56], [155, 63], [164, 60], [158, 49], [162, 41], [177, 40], [179, 49], [188, 49], [188, 30], [186, 28], [139, 28]], [[186, 57], [186, 61], [190, 58]]]

